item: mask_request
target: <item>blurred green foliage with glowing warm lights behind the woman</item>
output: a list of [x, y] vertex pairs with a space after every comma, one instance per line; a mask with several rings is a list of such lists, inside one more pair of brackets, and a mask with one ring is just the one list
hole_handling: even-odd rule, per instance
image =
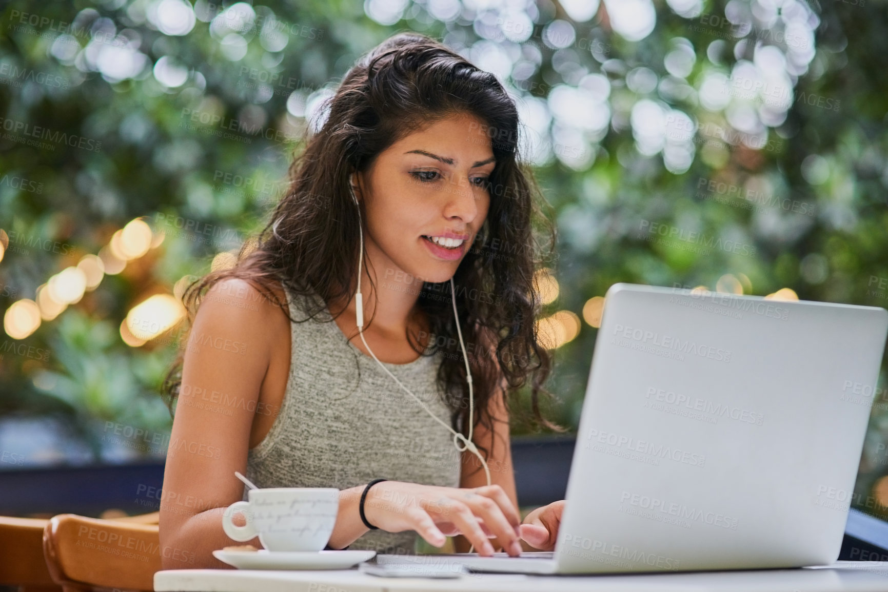
[[[0, 15], [11, 466], [163, 457], [183, 285], [232, 263], [321, 100], [399, 30], [519, 103], [559, 226], [538, 284], [553, 419], [575, 429], [614, 282], [888, 303], [882, 2], [13, 0]], [[888, 458], [878, 401], [865, 492]]]

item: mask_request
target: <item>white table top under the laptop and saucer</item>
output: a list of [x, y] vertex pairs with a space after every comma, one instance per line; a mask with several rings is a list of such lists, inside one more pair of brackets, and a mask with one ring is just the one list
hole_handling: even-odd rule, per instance
[[888, 562], [846, 563], [796, 570], [632, 575], [537, 576], [472, 573], [458, 580], [379, 578], [351, 570], [276, 572], [168, 570], [155, 573], [157, 592], [885, 592]]

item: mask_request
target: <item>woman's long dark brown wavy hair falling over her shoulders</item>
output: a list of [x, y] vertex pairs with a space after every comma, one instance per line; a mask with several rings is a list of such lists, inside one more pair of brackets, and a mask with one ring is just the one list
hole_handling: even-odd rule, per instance
[[[540, 414], [539, 396], [551, 356], [537, 342], [541, 303], [534, 272], [555, 244], [548, 204], [532, 173], [517, 160], [518, 111], [496, 76], [480, 70], [431, 37], [400, 33], [358, 60], [321, 109], [321, 129], [306, 132], [305, 149], [289, 166], [289, 189], [271, 219], [241, 250], [231, 269], [194, 281], [183, 301], [189, 322], [202, 296], [219, 280], [248, 280], [292, 322], [313, 319], [324, 303], [349, 302], [358, 265], [358, 211], [348, 178], [411, 131], [453, 114], [474, 114], [488, 125], [496, 168], [488, 179], [488, 217], [454, 275], [456, 307], [472, 367], [477, 422], [493, 430], [488, 403], [505, 379], [509, 394], [527, 385], [537, 424], [561, 428]], [[366, 265], [366, 262], [364, 263]], [[324, 303], [293, 319], [269, 286], [281, 282], [293, 295]], [[306, 298], [312, 302], [312, 298]], [[456, 338], [448, 282], [422, 282], [416, 307], [428, 320], [430, 350], [410, 335], [417, 353], [440, 355], [438, 382], [455, 430], [467, 433], [469, 392]], [[357, 330], [355, 330], [357, 334]], [[493, 357], [496, 357], [494, 363]], [[163, 396], [178, 396], [184, 352], [166, 376]], [[506, 398], [508, 406], [508, 398]]]

